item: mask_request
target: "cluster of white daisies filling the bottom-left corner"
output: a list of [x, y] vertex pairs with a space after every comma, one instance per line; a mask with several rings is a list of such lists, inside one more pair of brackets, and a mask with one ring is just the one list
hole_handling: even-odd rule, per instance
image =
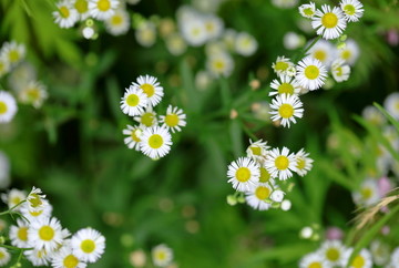
[[[33, 266], [83, 268], [104, 252], [105, 238], [98, 230], [88, 227], [72, 235], [63, 228], [51, 215], [52, 206], [40, 188], [33, 187], [28, 195], [11, 189], [1, 198], [11, 214], [21, 216], [9, 228], [10, 243], [22, 249]], [[0, 249], [0, 265], [4, 266], [11, 259], [10, 252]]]

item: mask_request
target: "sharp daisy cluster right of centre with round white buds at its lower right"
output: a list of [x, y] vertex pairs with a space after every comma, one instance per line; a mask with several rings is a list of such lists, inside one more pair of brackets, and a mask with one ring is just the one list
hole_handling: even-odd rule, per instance
[[[249, 141], [247, 155], [233, 161], [228, 165], [228, 183], [236, 194], [228, 196], [228, 203], [245, 202], [258, 210], [284, 208], [287, 179], [294, 176], [305, 176], [313, 166], [313, 159], [304, 150], [290, 153], [287, 147], [270, 148], [267, 142]], [[289, 208], [288, 208], [289, 209]]]

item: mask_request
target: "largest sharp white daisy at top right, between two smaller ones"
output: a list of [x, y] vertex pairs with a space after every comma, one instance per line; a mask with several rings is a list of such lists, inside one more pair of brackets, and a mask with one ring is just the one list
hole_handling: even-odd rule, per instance
[[318, 35], [323, 35], [324, 39], [339, 38], [346, 28], [346, 20], [344, 19], [342, 11], [328, 4], [321, 6], [321, 11], [316, 10], [316, 14], [311, 19], [311, 27], [316, 29]]

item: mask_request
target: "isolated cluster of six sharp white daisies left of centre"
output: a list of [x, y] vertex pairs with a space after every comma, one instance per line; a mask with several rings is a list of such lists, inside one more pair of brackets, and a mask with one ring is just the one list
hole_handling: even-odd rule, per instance
[[133, 82], [121, 100], [121, 110], [133, 117], [137, 124], [123, 130], [124, 143], [129, 148], [141, 151], [157, 159], [171, 151], [171, 133], [181, 132], [186, 125], [183, 110], [168, 105], [166, 114], [157, 115], [154, 107], [162, 101], [164, 90], [157, 79], [145, 75]]

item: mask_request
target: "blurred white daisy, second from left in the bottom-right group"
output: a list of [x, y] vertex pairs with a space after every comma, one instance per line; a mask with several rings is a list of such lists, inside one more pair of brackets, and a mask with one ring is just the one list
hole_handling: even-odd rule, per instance
[[345, 265], [345, 252], [346, 247], [340, 240], [326, 240], [321, 244], [319, 254], [324, 256], [325, 260], [331, 266], [344, 266]]

